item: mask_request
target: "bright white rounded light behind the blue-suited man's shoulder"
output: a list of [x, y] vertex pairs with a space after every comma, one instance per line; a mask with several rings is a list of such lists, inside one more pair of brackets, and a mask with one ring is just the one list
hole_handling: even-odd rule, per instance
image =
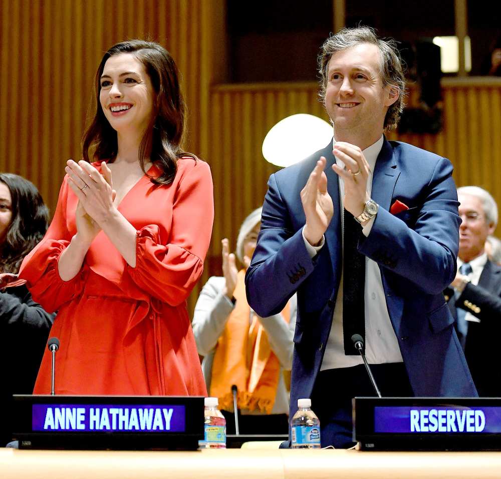
[[324, 148], [333, 135], [332, 125], [306, 113], [280, 120], [263, 141], [263, 156], [276, 166], [290, 166]]

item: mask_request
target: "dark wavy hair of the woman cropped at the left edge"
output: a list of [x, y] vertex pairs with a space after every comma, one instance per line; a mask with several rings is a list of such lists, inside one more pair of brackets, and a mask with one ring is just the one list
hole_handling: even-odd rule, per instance
[[0, 273], [18, 273], [23, 258], [49, 227], [49, 210], [31, 181], [12, 173], [0, 173], [0, 182], [9, 188], [12, 204], [12, 221], [0, 244]]

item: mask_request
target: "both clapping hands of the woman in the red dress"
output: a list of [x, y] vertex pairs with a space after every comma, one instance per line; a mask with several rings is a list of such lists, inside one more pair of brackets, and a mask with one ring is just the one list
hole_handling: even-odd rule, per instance
[[101, 171], [84, 160], [68, 160], [65, 168], [68, 184], [78, 198], [76, 223], [78, 234], [88, 243], [101, 231], [115, 206], [111, 170], [101, 163]]

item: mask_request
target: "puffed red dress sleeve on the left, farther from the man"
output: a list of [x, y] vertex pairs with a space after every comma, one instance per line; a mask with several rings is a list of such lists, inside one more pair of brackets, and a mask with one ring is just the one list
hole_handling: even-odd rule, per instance
[[87, 275], [85, 268], [82, 268], [70, 281], [63, 281], [59, 276], [59, 258], [73, 236], [67, 227], [67, 202], [68, 183], [65, 177], [51, 225], [44, 239], [25, 257], [19, 271], [19, 277], [27, 281], [33, 299], [48, 312], [56, 311], [78, 296]]

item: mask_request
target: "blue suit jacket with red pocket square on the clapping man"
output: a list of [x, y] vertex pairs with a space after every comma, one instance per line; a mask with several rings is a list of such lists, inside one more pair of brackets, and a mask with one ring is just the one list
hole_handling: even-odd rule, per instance
[[[306, 220], [300, 192], [320, 156], [327, 159], [334, 216], [324, 247], [312, 259], [302, 236]], [[258, 245], [245, 277], [248, 303], [262, 317], [280, 312], [295, 292], [298, 295], [291, 417], [297, 399], [311, 397], [341, 277], [341, 208], [334, 161], [330, 143], [271, 175]], [[459, 242], [451, 174], [452, 165], [445, 158], [385, 140], [372, 183], [379, 211], [369, 236], [358, 245], [379, 265], [389, 316], [416, 396], [476, 396], [442, 294], [456, 273]], [[393, 215], [389, 210], [397, 199], [409, 209]]]

